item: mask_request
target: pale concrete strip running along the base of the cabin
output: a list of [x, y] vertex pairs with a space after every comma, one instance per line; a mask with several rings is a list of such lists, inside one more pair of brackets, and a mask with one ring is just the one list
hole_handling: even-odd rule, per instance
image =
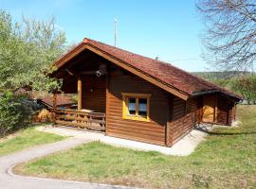
[[[206, 126], [207, 127], [207, 126]], [[204, 127], [205, 128], [205, 127]], [[180, 139], [177, 143], [172, 147], [167, 146], [157, 146], [147, 143], [141, 143], [132, 140], [120, 139], [117, 137], [105, 136], [103, 133], [99, 132], [91, 132], [86, 130], [77, 130], [77, 129], [67, 129], [61, 127], [39, 127], [41, 131], [46, 131], [50, 133], [55, 133], [63, 136], [76, 136], [76, 137], [85, 137], [86, 139], [92, 141], [101, 141], [101, 143], [105, 143], [112, 146], [122, 146], [128, 147], [136, 150], [143, 151], [158, 151], [165, 155], [173, 155], [173, 156], [188, 156], [190, 155], [196, 146], [200, 144], [205, 137], [207, 136], [207, 132], [204, 129], [192, 129], [190, 133]], [[208, 128], [208, 129], [211, 129]]]

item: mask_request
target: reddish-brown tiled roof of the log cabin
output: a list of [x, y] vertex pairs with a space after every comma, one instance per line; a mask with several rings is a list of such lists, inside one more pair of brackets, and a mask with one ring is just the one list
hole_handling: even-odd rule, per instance
[[[118, 47], [97, 42], [94, 40], [90, 40], [87, 38], [83, 40], [83, 43], [78, 44], [76, 47], [74, 47], [65, 55], [68, 55], [70, 52], [76, 50], [78, 46], [81, 46], [82, 44], [87, 44], [94, 48], [97, 48], [104, 54], [107, 54], [117, 60], [123, 61], [129, 64], [130, 66], [136, 68], [140, 72], [146, 75], [149, 75], [151, 77], [154, 77], [155, 79], [161, 81], [162, 83], [168, 86], [172, 86], [177, 90], [181, 90], [186, 94], [195, 95], [195, 94], [210, 93], [210, 92], [222, 92], [224, 94], [229, 94], [239, 99], [242, 98], [238, 94], [234, 94], [229, 90], [224, 89], [213, 83], [210, 83], [209, 81], [203, 78], [193, 76], [192, 74], [184, 70], [174, 67], [170, 63], [166, 63], [160, 60], [153, 60], [153, 59], [120, 49]], [[60, 60], [64, 59], [65, 55]]]

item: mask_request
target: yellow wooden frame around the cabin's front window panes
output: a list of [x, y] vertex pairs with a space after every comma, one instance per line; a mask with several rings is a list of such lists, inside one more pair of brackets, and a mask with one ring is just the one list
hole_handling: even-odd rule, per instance
[[[123, 119], [130, 119], [136, 121], [150, 121], [150, 97], [151, 94], [133, 94], [133, 93], [121, 93], [122, 95], [122, 118]], [[128, 99], [129, 98], [136, 98], [136, 114], [130, 115], [128, 112]], [[138, 115], [138, 99], [145, 98], [147, 99], [147, 116], [143, 117]]]

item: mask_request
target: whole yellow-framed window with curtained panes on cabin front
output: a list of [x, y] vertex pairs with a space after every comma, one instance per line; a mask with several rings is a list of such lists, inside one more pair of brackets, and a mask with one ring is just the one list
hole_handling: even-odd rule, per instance
[[150, 121], [149, 102], [151, 94], [122, 93], [122, 118]]

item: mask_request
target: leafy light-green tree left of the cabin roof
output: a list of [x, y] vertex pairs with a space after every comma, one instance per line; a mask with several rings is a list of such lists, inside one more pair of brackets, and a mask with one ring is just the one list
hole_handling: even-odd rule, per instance
[[64, 53], [65, 43], [64, 32], [55, 27], [54, 19], [23, 18], [13, 23], [9, 13], [0, 10], [0, 88], [60, 89], [61, 81], [49, 75], [55, 70], [52, 62]]

